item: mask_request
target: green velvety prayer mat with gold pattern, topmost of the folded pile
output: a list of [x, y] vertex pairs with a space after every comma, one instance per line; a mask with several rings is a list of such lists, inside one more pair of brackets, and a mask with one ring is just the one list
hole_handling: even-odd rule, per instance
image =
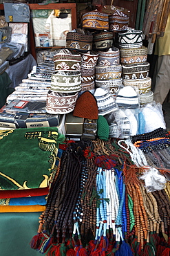
[[1, 130], [0, 138], [1, 190], [46, 188], [52, 182], [65, 139], [56, 127]]

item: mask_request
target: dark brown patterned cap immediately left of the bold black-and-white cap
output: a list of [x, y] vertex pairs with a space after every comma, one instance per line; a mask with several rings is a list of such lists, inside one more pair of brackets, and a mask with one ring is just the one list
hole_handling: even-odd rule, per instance
[[93, 47], [96, 50], [104, 50], [113, 46], [114, 34], [109, 31], [103, 31], [94, 35]]

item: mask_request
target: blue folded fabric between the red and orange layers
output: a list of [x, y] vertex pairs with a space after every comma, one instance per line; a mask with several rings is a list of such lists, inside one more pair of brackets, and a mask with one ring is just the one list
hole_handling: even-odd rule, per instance
[[45, 205], [45, 198], [47, 195], [0, 199], [0, 205]]

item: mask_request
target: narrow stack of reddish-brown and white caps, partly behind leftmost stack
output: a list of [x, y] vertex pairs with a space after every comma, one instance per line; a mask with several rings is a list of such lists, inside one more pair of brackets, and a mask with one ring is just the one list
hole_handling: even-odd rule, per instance
[[95, 67], [98, 60], [98, 52], [89, 51], [81, 53], [81, 91], [91, 91], [94, 93]]

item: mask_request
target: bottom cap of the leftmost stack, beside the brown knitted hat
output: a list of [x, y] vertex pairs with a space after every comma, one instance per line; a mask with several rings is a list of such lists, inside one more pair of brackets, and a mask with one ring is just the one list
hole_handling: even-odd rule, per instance
[[61, 95], [54, 91], [47, 93], [46, 111], [52, 114], [65, 114], [74, 110], [78, 93], [72, 93], [70, 95]]

